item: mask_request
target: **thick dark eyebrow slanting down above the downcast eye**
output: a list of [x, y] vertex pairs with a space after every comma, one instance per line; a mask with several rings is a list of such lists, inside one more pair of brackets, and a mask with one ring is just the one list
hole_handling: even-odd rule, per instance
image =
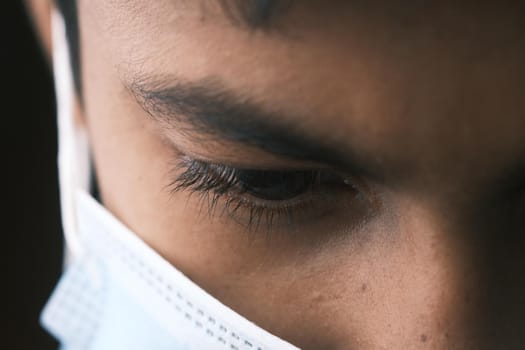
[[353, 175], [379, 174], [376, 164], [356, 156], [347, 146], [328, 144], [326, 137], [309, 135], [300, 128], [304, 120], [301, 117], [269, 111], [264, 103], [225, 88], [217, 79], [170, 79], [169, 85], [163, 80], [124, 84], [146, 113], [185, 135], [243, 144], [279, 157], [326, 164]]

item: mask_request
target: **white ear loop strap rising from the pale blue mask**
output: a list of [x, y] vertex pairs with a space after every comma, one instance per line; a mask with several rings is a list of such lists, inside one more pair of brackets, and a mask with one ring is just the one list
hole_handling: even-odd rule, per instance
[[76, 217], [76, 192], [88, 191], [90, 177], [89, 146], [86, 131], [75, 124], [75, 89], [62, 14], [51, 13], [53, 74], [57, 101], [58, 175], [62, 226], [66, 240], [65, 263], [84, 253]]

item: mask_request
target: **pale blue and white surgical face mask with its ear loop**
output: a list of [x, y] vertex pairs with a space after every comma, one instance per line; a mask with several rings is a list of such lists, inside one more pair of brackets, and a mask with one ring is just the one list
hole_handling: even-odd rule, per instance
[[[63, 18], [53, 13], [66, 272], [41, 322], [66, 350], [297, 349], [207, 294], [88, 193]], [[255, 286], [254, 286], [255, 288]]]

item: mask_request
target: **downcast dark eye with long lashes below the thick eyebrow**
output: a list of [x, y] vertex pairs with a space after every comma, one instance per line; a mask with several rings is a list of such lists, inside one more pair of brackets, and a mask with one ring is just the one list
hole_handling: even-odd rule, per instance
[[347, 208], [359, 193], [348, 177], [327, 169], [242, 169], [184, 158], [175, 174], [173, 192], [197, 193], [210, 214], [221, 205], [221, 213], [250, 229], [313, 220]]

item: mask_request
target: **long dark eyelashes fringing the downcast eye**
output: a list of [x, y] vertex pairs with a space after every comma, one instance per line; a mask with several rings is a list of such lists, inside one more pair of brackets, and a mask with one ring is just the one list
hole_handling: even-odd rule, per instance
[[[288, 228], [294, 226], [294, 217], [301, 213], [313, 209], [316, 199], [322, 196], [321, 185], [325, 170], [304, 170], [304, 171], [274, 171], [274, 170], [253, 170], [239, 169], [224, 164], [207, 163], [192, 159], [189, 157], [182, 158], [175, 166], [175, 179], [171, 182], [169, 188], [171, 193], [189, 190], [191, 194], [198, 194], [201, 201], [201, 210], [203, 205], [207, 204], [208, 215], [211, 217], [219, 203], [223, 201], [222, 214], [227, 213], [235, 221], [239, 222], [238, 212], [246, 210], [248, 220], [245, 224], [251, 232], [258, 230], [260, 224], [266, 225], [266, 231], [269, 232], [276, 220], [284, 219]], [[253, 173], [257, 176], [275, 176], [282, 178], [283, 184], [286, 176], [298, 176], [307, 186], [304, 193], [299, 194], [291, 199], [272, 200], [257, 198], [249, 194], [247, 184], [242, 182], [242, 177], [246, 173]], [[339, 177], [340, 184], [355, 190], [342, 177]], [[293, 178], [291, 180], [294, 180]], [[221, 214], [221, 215], [222, 215]]]

